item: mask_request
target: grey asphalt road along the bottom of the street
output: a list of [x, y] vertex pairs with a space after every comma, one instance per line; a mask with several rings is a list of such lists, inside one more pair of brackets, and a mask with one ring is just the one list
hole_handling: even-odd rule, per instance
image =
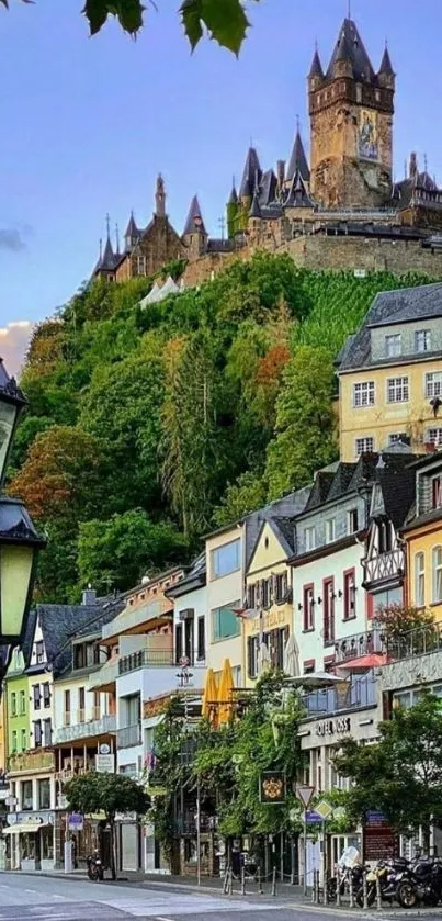
[[[373, 918], [360, 911], [309, 908], [287, 899], [258, 897], [223, 897], [216, 892], [178, 890], [173, 886], [122, 885], [90, 883], [88, 879], [29, 876], [20, 873], [0, 874], [0, 921], [355, 921]], [[438, 912], [431, 912], [432, 919]], [[385, 911], [381, 918], [399, 917], [411, 921], [406, 912]], [[377, 913], [379, 918], [379, 913]], [[416, 918], [416, 914], [415, 914]], [[439, 912], [442, 919], [442, 909]], [[438, 921], [439, 921], [438, 919]]]

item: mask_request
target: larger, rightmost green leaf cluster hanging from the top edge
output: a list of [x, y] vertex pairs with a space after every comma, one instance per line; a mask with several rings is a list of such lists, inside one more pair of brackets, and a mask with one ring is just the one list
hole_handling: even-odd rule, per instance
[[202, 38], [204, 24], [212, 38], [238, 55], [250, 24], [240, 0], [184, 0], [180, 12], [192, 50]]

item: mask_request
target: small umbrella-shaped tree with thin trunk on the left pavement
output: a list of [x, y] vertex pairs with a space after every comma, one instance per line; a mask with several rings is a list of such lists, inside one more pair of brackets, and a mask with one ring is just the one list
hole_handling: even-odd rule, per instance
[[117, 812], [136, 812], [145, 816], [150, 800], [143, 787], [124, 774], [97, 774], [91, 771], [72, 777], [66, 784], [68, 809], [88, 816], [104, 812], [111, 829], [111, 872], [116, 879], [115, 816]]

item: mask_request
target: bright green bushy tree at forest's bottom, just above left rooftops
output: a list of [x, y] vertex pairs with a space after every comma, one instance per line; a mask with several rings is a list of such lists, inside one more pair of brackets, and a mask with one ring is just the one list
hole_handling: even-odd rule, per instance
[[80, 584], [99, 592], [123, 591], [169, 564], [182, 562], [186, 541], [170, 521], [152, 523], [143, 509], [112, 515], [106, 520], [80, 523], [78, 568]]

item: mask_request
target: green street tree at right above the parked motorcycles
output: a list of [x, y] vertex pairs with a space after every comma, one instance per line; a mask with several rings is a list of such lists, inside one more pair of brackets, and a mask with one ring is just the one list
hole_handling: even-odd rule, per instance
[[442, 822], [440, 699], [423, 694], [413, 707], [395, 708], [379, 732], [373, 745], [344, 740], [335, 759], [337, 771], [352, 780], [347, 810], [358, 821], [367, 810], [381, 810], [403, 834], [421, 828], [428, 853], [431, 823]]

